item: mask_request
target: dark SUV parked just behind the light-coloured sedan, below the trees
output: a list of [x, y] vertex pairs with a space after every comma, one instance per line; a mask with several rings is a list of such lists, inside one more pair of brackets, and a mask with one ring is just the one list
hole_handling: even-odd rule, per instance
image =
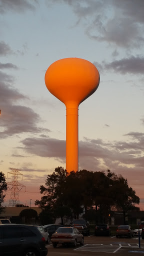
[[89, 222], [85, 219], [74, 219], [71, 226], [76, 227], [83, 235], [89, 235]]

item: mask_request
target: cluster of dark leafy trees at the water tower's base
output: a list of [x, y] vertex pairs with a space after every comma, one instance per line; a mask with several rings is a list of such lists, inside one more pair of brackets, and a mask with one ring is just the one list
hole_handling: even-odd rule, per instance
[[139, 210], [139, 197], [127, 179], [109, 169], [106, 171], [79, 170], [68, 173], [63, 167], [56, 167], [48, 174], [45, 186], [40, 185], [40, 200], [35, 201], [42, 211], [43, 224], [52, 223], [56, 217], [78, 218], [80, 213], [88, 220], [107, 221], [113, 211], [125, 213]]

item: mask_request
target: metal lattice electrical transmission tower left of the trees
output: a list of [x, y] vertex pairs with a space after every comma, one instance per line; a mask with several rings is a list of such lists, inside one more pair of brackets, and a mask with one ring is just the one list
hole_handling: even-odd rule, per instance
[[[11, 185], [12, 187], [11, 188], [8, 187], [11, 190], [8, 206], [15, 206], [16, 204], [19, 204], [18, 191], [20, 191], [24, 186], [23, 184], [18, 182], [18, 175], [22, 175], [22, 179], [23, 179], [23, 174], [19, 172], [19, 169], [15, 169], [15, 168], [9, 168], [9, 169], [11, 171], [7, 173], [12, 174], [12, 181], [7, 182], [7, 185]], [[21, 186], [21, 188], [19, 189], [18, 186]], [[25, 191], [26, 191], [26, 187], [25, 187]]]

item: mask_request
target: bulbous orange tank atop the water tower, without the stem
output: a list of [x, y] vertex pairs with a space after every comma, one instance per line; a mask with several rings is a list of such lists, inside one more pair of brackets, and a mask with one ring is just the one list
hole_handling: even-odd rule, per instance
[[63, 58], [53, 62], [45, 73], [47, 89], [67, 105], [79, 105], [99, 85], [97, 68], [82, 58]]

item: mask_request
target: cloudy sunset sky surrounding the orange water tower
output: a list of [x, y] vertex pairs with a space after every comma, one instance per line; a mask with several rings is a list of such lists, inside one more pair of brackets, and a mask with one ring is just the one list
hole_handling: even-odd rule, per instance
[[65, 168], [65, 105], [44, 75], [77, 57], [100, 75], [79, 105], [79, 170], [121, 174], [144, 210], [143, 9], [143, 0], [0, 0], [0, 171], [10, 182], [19, 169], [20, 203], [34, 206], [47, 174]]

